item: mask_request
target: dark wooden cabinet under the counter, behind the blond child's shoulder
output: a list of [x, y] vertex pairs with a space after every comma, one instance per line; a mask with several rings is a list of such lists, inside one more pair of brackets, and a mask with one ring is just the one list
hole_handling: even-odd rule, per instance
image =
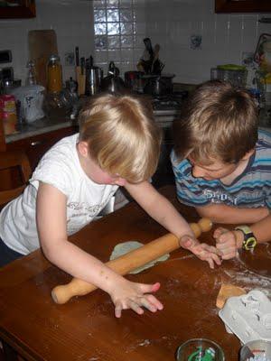
[[30, 136], [29, 138], [24, 138], [13, 143], [7, 143], [6, 150], [23, 149], [28, 156], [32, 170], [34, 170], [42, 158], [42, 155], [46, 153], [54, 143], [57, 143], [64, 136], [75, 134], [76, 132], [76, 127], [69, 126], [49, 133]]

